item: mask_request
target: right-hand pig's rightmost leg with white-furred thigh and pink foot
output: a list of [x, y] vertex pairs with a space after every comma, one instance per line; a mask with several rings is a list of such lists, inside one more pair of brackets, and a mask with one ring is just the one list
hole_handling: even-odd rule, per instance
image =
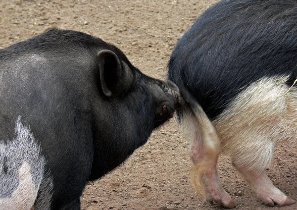
[[263, 78], [251, 84], [213, 122], [232, 164], [269, 206], [295, 203], [265, 173], [277, 142], [295, 138], [297, 133], [292, 118], [296, 116], [296, 99], [293, 90], [288, 91], [286, 80]]

